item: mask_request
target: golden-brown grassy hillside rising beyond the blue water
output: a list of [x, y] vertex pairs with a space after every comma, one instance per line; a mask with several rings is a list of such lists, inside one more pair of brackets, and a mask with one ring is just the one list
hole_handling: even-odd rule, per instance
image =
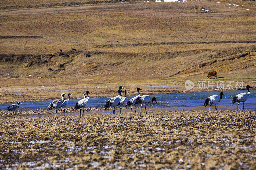
[[[256, 7], [252, 1], [63, 7], [65, 2], [70, 1], [36, 1], [39, 6], [20, 9], [19, 5], [32, 1], [1, 1], [0, 102], [57, 98], [60, 91], [55, 89], [73, 89], [74, 98], [81, 98], [84, 90], [92, 91], [92, 97], [106, 97], [116, 93], [109, 87], [119, 85], [128, 87], [129, 95], [135, 95], [137, 86], [151, 93], [181, 92], [186, 79], [205, 80], [211, 70], [217, 70], [215, 82], [244, 80], [256, 85]], [[57, 4], [44, 5], [51, 3]], [[210, 12], [200, 11], [201, 7]], [[58, 56], [59, 49], [70, 57]]]

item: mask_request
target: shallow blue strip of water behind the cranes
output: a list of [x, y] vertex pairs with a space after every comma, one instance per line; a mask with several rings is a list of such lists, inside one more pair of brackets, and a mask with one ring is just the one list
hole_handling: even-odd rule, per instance
[[[232, 98], [236, 96], [238, 93], [247, 92], [246, 90], [238, 90], [238, 91], [222, 91], [225, 95], [222, 100], [218, 103], [218, 109], [236, 109], [237, 104], [231, 105]], [[245, 109], [256, 110], [256, 90], [250, 90], [250, 97], [244, 103]], [[144, 93], [142, 93], [143, 95]], [[220, 92], [196, 92], [196, 93], [175, 93], [175, 94], [158, 94], [151, 95], [152, 97], [156, 97], [158, 105], [154, 104], [148, 107], [167, 107], [167, 108], [175, 108], [175, 109], [190, 109], [190, 110], [204, 110], [208, 109], [208, 107], [203, 107], [205, 99], [207, 99], [211, 95], [219, 95]], [[134, 96], [127, 97], [128, 101]], [[88, 101], [88, 107], [103, 107], [104, 104], [110, 98], [94, 98]], [[75, 106], [76, 102], [80, 99], [71, 99], [68, 103], [68, 107]], [[47, 101], [32, 101], [32, 102], [22, 102], [20, 104], [20, 108], [36, 108], [36, 107], [48, 107], [49, 103], [52, 100]], [[10, 104], [14, 103], [0, 103], [0, 109], [6, 109]], [[239, 108], [242, 108], [242, 103], [239, 105]], [[212, 107], [214, 109], [214, 107]]]

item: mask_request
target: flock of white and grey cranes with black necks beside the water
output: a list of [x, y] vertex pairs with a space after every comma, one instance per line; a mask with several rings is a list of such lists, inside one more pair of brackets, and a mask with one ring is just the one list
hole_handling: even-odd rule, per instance
[[[251, 87], [250, 85], [247, 85], [247, 86], [246, 86], [246, 90], [247, 90], [248, 92], [244, 92], [244, 93], [237, 94], [236, 97], [233, 98], [231, 104], [233, 103], [233, 105], [234, 105], [234, 104], [237, 102], [238, 105], [239, 105], [239, 103], [243, 102], [243, 109], [244, 109], [244, 102], [245, 102], [245, 101], [248, 99], [248, 97], [250, 96], [250, 90], [249, 90], [249, 88], [252, 88], [252, 87]], [[123, 112], [122, 109], [123, 109], [123, 106], [124, 106], [124, 102], [125, 102], [126, 99], [127, 99], [127, 96], [126, 96], [127, 91], [126, 91], [126, 90], [123, 91], [122, 89], [123, 89], [123, 87], [122, 87], [122, 86], [119, 86], [119, 89], [118, 89], [118, 91], [117, 91], [117, 92], [118, 92], [118, 95], [117, 95], [116, 97], [113, 97], [113, 98], [109, 99], [109, 100], [107, 101], [107, 103], [105, 104], [105, 106], [104, 106], [104, 109], [107, 109], [107, 108], [109, 108], [109, 107], [113, 107], [113, 117], [115, 117], [115, 115], [116, 115], [116, 113], [115, 113], [115, 108], [116, 108], [116, 107], [118, 107], [118, 106], [120, 107], [120, 114], [121, 114], [121, 115], [122, 115], [122, 112]], [[127, 102], [126, 106], [127, 106], [128, 108], [129, 108], [130, 106], [134, 107], [135, 114], [136, 114], [136, 109], [135, 109], [135, 107], [136, 107], [136, 105], [139, 105], [139, 104], [140, 104], [140, 105], [141, 105], [141, 107], [140, 107], [140, 116], [141, 116], [142, 106], [145, 105], [145, 111], [146, 111], [146, 115], [147, 115], [147, 117], [148, 117], [147, 108], [146, 108], [146, 107], [147, 107], [147, 104], [148, 104], [148, 103], [153, 103], [154, 101], [156, 102], [156, 98], [155, 98], [155, 97], [151, 98], [149, 95], [140, 95], [140, 90], [142, 90], [142, 89], [137, 88], [138, 95], [137, 95], [136, 97], [133, 97], [132, 99], [130, 99], [130, 100]], [[125, 95], [124, 97], [122, 97], [122, 92], [124, 92], [124, 95]], [[89, 100], [89, 95], [88, 95], [88, 94], [90, 94], [90, 93], [89, 93], [89, 91], [87, 90], [87, 91], [86, 91], [85, 93], [83, 93], [83, 94], [84, 94], [84, 99], [79, 100], [79, 101], [76, 103], [75, 107], [73, 108], [73, 110], [78, 110], [78, 109], [79, 109], [80, 117], [81, 117], [82, 109], [83, 109], [83, 113], [82, 113], [82, 114], [83, 114], [83, 116], [84, 116], [84, 107], [85, 107], [86, 104], [88, 103], [88, 100]], [[69, 102], [69, 100], [70, 100], [70, 95], [72, 95], [72, 94], [68, 93], [68, 99], [67, 99], [67, 100], [65, 100], [65, 98], [64, 98], [65, 95], [66, 95], [66, 94], [65, 94], [64, 92], [62, 92], [62, 93], [61, 93], [61, 98], [62, 98], [62, 99], [53, 100], [53, 101], [49, 104], [49, 106], [48, 106], [48, 109], [49, 109], [49, 110], [56, 109], [56, 111], [55, 111], [55, 120], [56, 120], [56, 117], [57, 117], [57, 119], [58, 119], [57, 110], [59, 110], [60, 108], [61, 108], [61, 110], [60, 110], [60, 115], [61, 115], [62, 109], [63, 109], [63, 107], [64, 107], [64, 116], [65, 116], [65, 109], [66, 109], [66, 106], [68, 105], [68, 102]], [[216, 109], [216, 111], [217, 111], [217, 113], [218, 113], [218, 110], [217, 110], [217, 103], [221, 101], [222, 96], [225, 96], [225, 95], [223, 94], [223, 92], [220, 92], [220, 95], [212, 95], [212, 96], [208, 97], [208, 98], [205, 100], [204, 106], [206, 107], [206, 106], [209, 105], [209, 114], [210, 114], [210, 110], [211, 110], [211, 106], [212, 106], [212, 105], [215, 105], [215, 109]], [[10, 105], [9, 107], [7, 107], [7, 111], [11, 111], [10, 114], [12, 115], [12, 118], [15, 118], [15, 117], [14, 117], [14, 111], [15, 111], [17, 108], [20, 107], [19, 104], [22, 104], [22, 103], [17, 102], [17, 104], [12, 104], [12, 105]], [[156, 102], [156, 104], [157, 104], [157, 102]], [[237, 105], [236, 113], [237, 113], [237, 110], [238, 110], [238, 105]], [[131, 115], [132, 115], [132, 107], [131, 107]], [[12, 111], [13, 111], [13, 113], [12, 113]], [[218, 113], [218, 115], [219, 115], [219, 113]]]

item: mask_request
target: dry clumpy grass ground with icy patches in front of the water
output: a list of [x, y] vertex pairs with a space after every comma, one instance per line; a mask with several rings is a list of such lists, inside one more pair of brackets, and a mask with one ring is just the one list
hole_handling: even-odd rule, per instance
[[0, 166], [17, 169], [255, 169], [255, 112], [173, 110], [0, 119]]

